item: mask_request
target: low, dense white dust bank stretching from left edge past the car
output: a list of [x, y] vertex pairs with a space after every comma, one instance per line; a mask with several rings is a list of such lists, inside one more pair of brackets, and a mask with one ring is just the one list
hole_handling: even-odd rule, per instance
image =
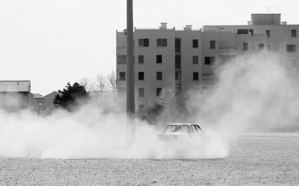
[[133, 121], [129, 122], [128, 127], [126, 114], [105, 115], [102, 111], [93, 105], [85, 105], [73, 113], [57, 110], [49, 116], [40, 116], [28, 110], [1, 111], [0, 156], [189, 159], [222, 158], [227, 155], [226, 147], [217, 138], [208, 143], [194, 143], [188, 139], [189, 146], [179, 141], [161, 143], [156, 137], [161, 130], [138, 119], [134, 121], [135, 143], [127, 146], [127, 133], [133, 135], [128, 130]]

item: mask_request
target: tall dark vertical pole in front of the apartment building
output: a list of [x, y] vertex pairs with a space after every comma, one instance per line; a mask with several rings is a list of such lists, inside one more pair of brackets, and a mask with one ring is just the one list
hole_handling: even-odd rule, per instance
[[[133, 0], [127, 0], [127, 142], [135, 140]], [[128, 144], [129, 145], [129, 144]]]

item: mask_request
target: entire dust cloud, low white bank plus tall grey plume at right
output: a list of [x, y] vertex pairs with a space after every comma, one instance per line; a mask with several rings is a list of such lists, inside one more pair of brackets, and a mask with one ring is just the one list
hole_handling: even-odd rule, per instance
[[[57, 110], [40, 116], [23, 110], [0, 111], [0, 156], [18, 158], [204, 159], [229, 155], [230, 136], [243, 132], [298, 129], [297, 72], [279, 56], [237, 59], [220, 67], [220, 78], [208, 94], [186, 102], [192, 113], [186, 121], [206, 131], [205, 140], [161, 143], [160, 127], [134, 120], [124, 113], [102, 114], [101, 108], [82, 106], [69, 113]], [[15, 103], [15, 101], [13, 101]], [[167, 113], [163, 113], [167, 114]], [[136, 134], [128, 128], [136, 125]], [[165, 127], [169, 123], [159, 122]], [[128, 132], [129, 131], [129, 132]], [[135, 143], [127, 146], [127, 134]]]

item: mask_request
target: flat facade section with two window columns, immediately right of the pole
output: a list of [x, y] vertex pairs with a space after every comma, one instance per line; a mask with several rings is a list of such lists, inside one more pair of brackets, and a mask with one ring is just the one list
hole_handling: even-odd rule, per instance
[[[135, 108], [139, 104], [150, 104], [158, 101], [156, 89], [174, 91], [174, 61], [175, 61], [175, 34], [173, 29], [136, 29], [135, 30]], [[139, 47], [139, 39], [149, 38], [149, 47]], [[167, 47], [156, 45], [156, 39], [167, 39]], [[138, 63], [138, 56], [144, 55], [144, 64]], [[156, 55], [162, 55], [162, 63], [156, 63]], [[139, 72], [145, 73], [145, 80], [138, 80]], [[156, 80], [156, 72], [162, 72], [163, 80]], [[139, 88], [145, 89], [145, 96], [140, 97]]]

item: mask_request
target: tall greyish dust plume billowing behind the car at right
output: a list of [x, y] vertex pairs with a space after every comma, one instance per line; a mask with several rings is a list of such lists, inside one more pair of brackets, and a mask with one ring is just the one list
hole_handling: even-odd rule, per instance
[[281, 59], [264, 53], [224, 66], [215, 90], [189, 102], [195, 120], [226, 133], [298, 131], [298, 69]]

